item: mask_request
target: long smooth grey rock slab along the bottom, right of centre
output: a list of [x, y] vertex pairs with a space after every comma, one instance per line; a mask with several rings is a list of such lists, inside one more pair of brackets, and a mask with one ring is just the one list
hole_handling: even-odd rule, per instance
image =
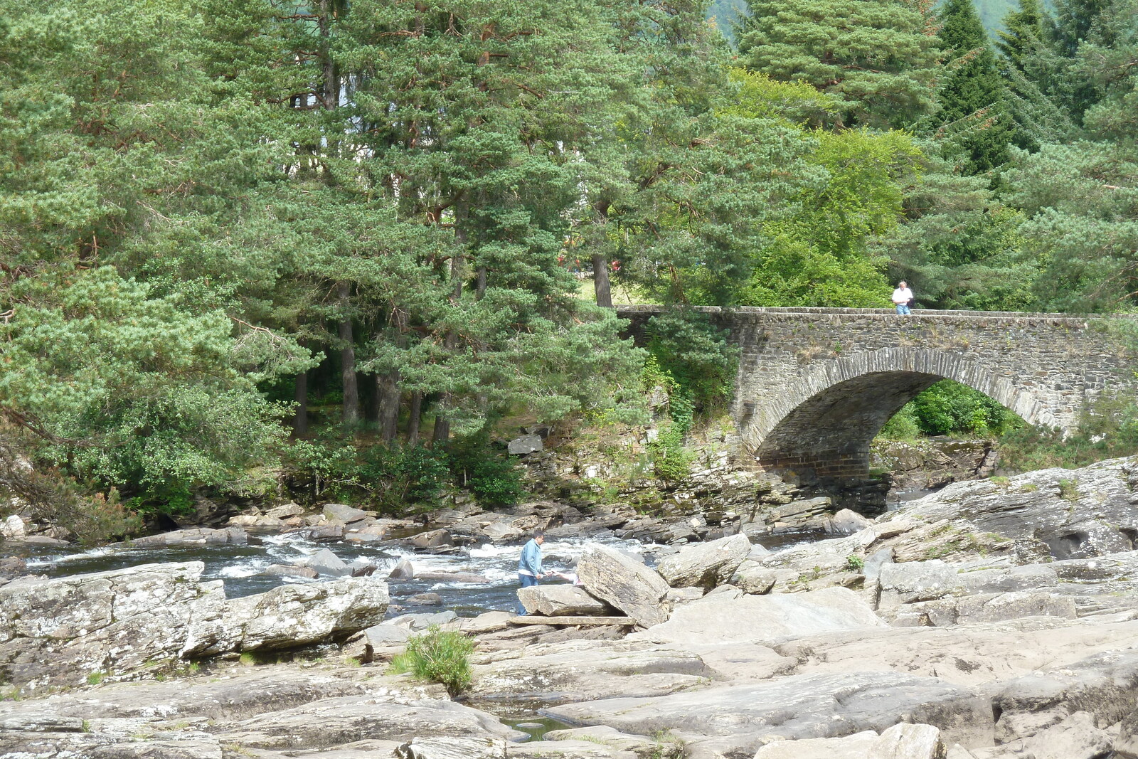
[[764, 736], [841, 737], [884, 731], [907, 719], [933, 725], [966, 745], [990, 744], [991, 701], [972, 688], [900, 673], [783, 677], [754, 685], [700, 688], [659, 698], [605, 699], [551, 707], [584, 725], [650, 735], [675, 729], [715, 736], [720, 751], [757, 751]]

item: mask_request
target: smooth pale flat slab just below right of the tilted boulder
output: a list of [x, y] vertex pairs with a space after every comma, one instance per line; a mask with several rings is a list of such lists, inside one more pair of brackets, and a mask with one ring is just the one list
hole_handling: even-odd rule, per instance
[[662, 625], [629, 636], [661, 643], [776, 641], [835, 630], [883, 628], [856, 593], [831, 587], [809, 593], [714, 593], [676, 607]]

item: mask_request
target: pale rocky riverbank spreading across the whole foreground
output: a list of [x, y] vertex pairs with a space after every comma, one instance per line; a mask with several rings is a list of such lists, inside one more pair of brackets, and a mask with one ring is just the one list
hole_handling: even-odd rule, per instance
[[[714, 529], [728, 534], [684, 536], [652, 568], [594, 546], [580, 586], [527, 593], [542, 618], [523, 621], [539, 624], [492, 612], [377, 625], [378, 577], [290, 586], [371, 589], [355, 601], [329, 591], [234, 607], [184, 566], [14, 580], [0, 587], [0, 659], [9, 687], [25, 682], [22, 700], [0, 704], [0, 757], [1136, 757], [1136, 506], [1138, 461], [1115, 460], [950, 485], [874, 521], [831, 514], [848, 535], [783, 551], [720, 520]], [[560, 519], [551, 529], [628, 523], [572, 521], [567, 508], [533, 505], [513, 521], [457, 510], [428, 542], [437, 530], [452, 542], [520, 531], [534, 518]], [[88, 596], [106, 605], [83, 607]], [[321, 604], [336, 614], [312, 611]], [[105, 622], [77, 628], [80, 609]], [[310, 617], [338, 621], [308, 634]], [[430, 621], [476, 641], [461, 702], [386, 674]], [[170, 634], [139, 632], [158, 628]], [[290, 645], [272, 628], [322, 641], [322, 658], [253, 666], [259, 641]], [[68, 663], [80, 637], [79, 650], [98, 643], [118, 668], [81, 677], [93, 659]], [[147, 676], [156, 655], [174, 665], [164, 682]], [[11, 666], [33, 660], [47, 673]], [[68, 675], [52, 680], [52, 668]], [[518, 720], [495, 715], [526, 710], [564, 727], [519, 743]]]

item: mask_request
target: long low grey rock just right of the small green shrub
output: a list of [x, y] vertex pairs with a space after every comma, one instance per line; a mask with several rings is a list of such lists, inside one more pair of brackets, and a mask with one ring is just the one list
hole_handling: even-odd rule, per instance
[[715, 673], [673, 646], [628, 641], [566, 641], [475, 654], [470, 694], [542, 703], [612, 695], [662, 695], [694, 687]]

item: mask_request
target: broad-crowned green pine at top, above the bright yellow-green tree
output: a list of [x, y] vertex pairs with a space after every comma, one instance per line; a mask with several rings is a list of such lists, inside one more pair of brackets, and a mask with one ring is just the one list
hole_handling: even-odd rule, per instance
[[910, 126], [935, 109], [930, 7], [907, 0], [753, 0], [747, 68], [843, 101], [839, 125]]

